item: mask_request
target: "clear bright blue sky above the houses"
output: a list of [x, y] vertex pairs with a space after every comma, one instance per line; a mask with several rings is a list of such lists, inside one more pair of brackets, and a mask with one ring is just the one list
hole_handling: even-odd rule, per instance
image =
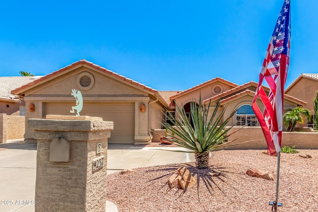
[[[258, 82], [283, 0], [1, 2], [0, 76], [46, 75], [85, 59], [158, 90], [216, 76]], [[317, 73], [318, 1], [291, 0], [286, 86]], [[285, 86], [285, 87], [286, 87]]]

